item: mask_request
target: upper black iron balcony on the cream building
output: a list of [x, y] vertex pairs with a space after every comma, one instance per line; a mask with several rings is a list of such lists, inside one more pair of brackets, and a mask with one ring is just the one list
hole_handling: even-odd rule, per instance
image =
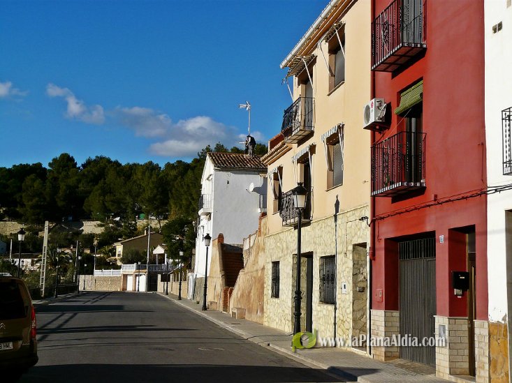
[[314, 98], [299, 97], [284, 111], [283, 133], [284, 141], [288, 144], [295, 144], [314, 130]]

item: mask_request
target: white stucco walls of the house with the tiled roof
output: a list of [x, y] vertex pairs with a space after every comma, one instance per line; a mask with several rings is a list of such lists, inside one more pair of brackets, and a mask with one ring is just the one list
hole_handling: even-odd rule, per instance
[[[212, 176], [210, 176], [212, 174]], [[208, 179], [210, 177], [210, 179]], [[196, 238], [196, 276], [205, 276], [206, 247], [203, 236], [208, 233], [212, 239], [224, 234], [225, 243], [242, 243], [244, 237], [258, 229], [259, 195], [266, 193], [267, 179], [258, 172], [240, 170], [214, 170], [207, 158], [203, 171], [202, 193], [212, 193], [211, 216], [200, 216]], [[249, 185], [254, 183], [254, 191]], [[208, 250], [210, 270], [212, 249]]]

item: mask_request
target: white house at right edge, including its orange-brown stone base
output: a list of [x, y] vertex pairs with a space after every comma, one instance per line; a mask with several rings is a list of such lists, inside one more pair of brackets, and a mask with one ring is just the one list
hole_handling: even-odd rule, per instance
[[[499, 190], [488, 195], [489, 373], [491, 380], [509, 382], [512, 356], [512, 2], [485, 1], [484, 6], [487, 177], [490, 191]], [[496, 345], [508, 345], [508, 357], [506, 353], [493, 352], [501, 350]], [[493, 366], [504, 367], [495, 370]]]

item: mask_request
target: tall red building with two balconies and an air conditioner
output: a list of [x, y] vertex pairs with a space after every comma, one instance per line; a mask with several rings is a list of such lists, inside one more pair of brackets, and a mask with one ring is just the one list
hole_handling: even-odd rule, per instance
[[372, 331], [446, 339], [373, 353], [478, 382], [488, 376], [488, 341], [475, 336], [488, 326], [483, 1], [372, 0], [372, 13]]

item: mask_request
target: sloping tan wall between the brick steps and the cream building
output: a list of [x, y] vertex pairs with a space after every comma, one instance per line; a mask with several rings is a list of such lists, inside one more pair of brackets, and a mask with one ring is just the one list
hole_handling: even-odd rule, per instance
[[[267, 219], [261, 219], [261, 232], [267, 230]], [[265, 239], [258, 235], [249, 236], [247, 249], [244, 246], [244, 269], [240, 270], [231, 295], [231, 308], [244, 308], [245, 319], [263, 324], [265, 314]]]

